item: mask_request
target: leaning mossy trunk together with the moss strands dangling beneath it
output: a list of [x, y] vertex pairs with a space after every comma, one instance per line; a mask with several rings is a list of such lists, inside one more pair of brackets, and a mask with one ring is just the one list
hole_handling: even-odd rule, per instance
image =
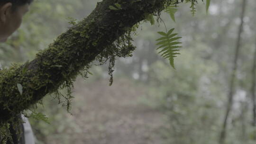
[[157, 16], [159, 22], [160, 12], [171, 1], [103, 0], [87, 18], [73, 21], [73, 26], [40, 51], [33, 61], [0, 71], [1, 144], [11, 139], [10, 124], [15, 129], [22, 122], [18, 118], [20, 112], [25, 114], [24, 110], [37, 108], [46, 94], [54, 96], [69, 110], [73, 81], [79, 74], [88, 78], [93, 61], [110, 62], [112, 84], [115, 59], [132, 56], [136, 48], [131, 33], [145, 19], [145, 14]]

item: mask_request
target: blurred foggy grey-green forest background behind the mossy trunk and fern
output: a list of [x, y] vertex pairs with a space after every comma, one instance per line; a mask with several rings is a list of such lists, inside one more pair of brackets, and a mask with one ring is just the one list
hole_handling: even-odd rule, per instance
[[[36, 0], [18, 32], [0, 44], [1, 65], [32, 60], [97, 1]], [[199, 0], [195, 16], [181, 4], [176, 22], [163, 13], [167, 28], [183, 37], [176, 70], [155, 50], [164, 24], [138, 27], [137, 50], [117, 60], [112, 86], [108, 65], [94, 66], [86, 81], [75, 82], [72, 115], [52, 97], [43, 100], [38, 111], [50, 124], [30, 119], [37, 144], [220, 144], [223, 130], [226, 144], [255, 144], [256, 1], [244, 8], [243, 1], [211, 0], [207, 14]]]

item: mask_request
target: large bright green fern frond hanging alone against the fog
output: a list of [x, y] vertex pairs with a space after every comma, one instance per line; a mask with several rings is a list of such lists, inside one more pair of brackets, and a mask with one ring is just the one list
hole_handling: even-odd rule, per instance
[[159, 45], [159, 47], [156, 48], [156, 50], [161, 49], [158, 54], [161, 54], [162, 57], [168, 58], [170, 61], [171, 66], [174, 67], [174, 57], [176, 57], [176, 53], [178, 48], [182, 46], [178, 46], [179, 44], [182, 44], [181, 42], [177, 42], [178, 39], [182, 37], [175, 37], [177, 34], [172, 34], [174, 31], [174, 28], [169, 30], [167, 33], [165, 32], [158, 32], [159, 35], [162, 35], [163, 37], [157, 39], [156, 41], [159, 41], [156, 45]]

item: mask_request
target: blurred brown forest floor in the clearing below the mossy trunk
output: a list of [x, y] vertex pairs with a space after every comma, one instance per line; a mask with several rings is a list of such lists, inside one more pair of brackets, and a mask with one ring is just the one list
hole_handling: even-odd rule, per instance
[[[162, 144], [163, 114], [140, 102], [146, 90], [126, 79], [76, 81], [73, 120], [75, 144]], [[77, 105], [78, 104], [78, 105]]]

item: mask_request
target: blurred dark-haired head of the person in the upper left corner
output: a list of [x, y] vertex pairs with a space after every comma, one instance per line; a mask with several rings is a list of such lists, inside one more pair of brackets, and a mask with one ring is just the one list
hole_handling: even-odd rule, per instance
[[0, 0], [0, 42], [15, 32], [33, 0]]

